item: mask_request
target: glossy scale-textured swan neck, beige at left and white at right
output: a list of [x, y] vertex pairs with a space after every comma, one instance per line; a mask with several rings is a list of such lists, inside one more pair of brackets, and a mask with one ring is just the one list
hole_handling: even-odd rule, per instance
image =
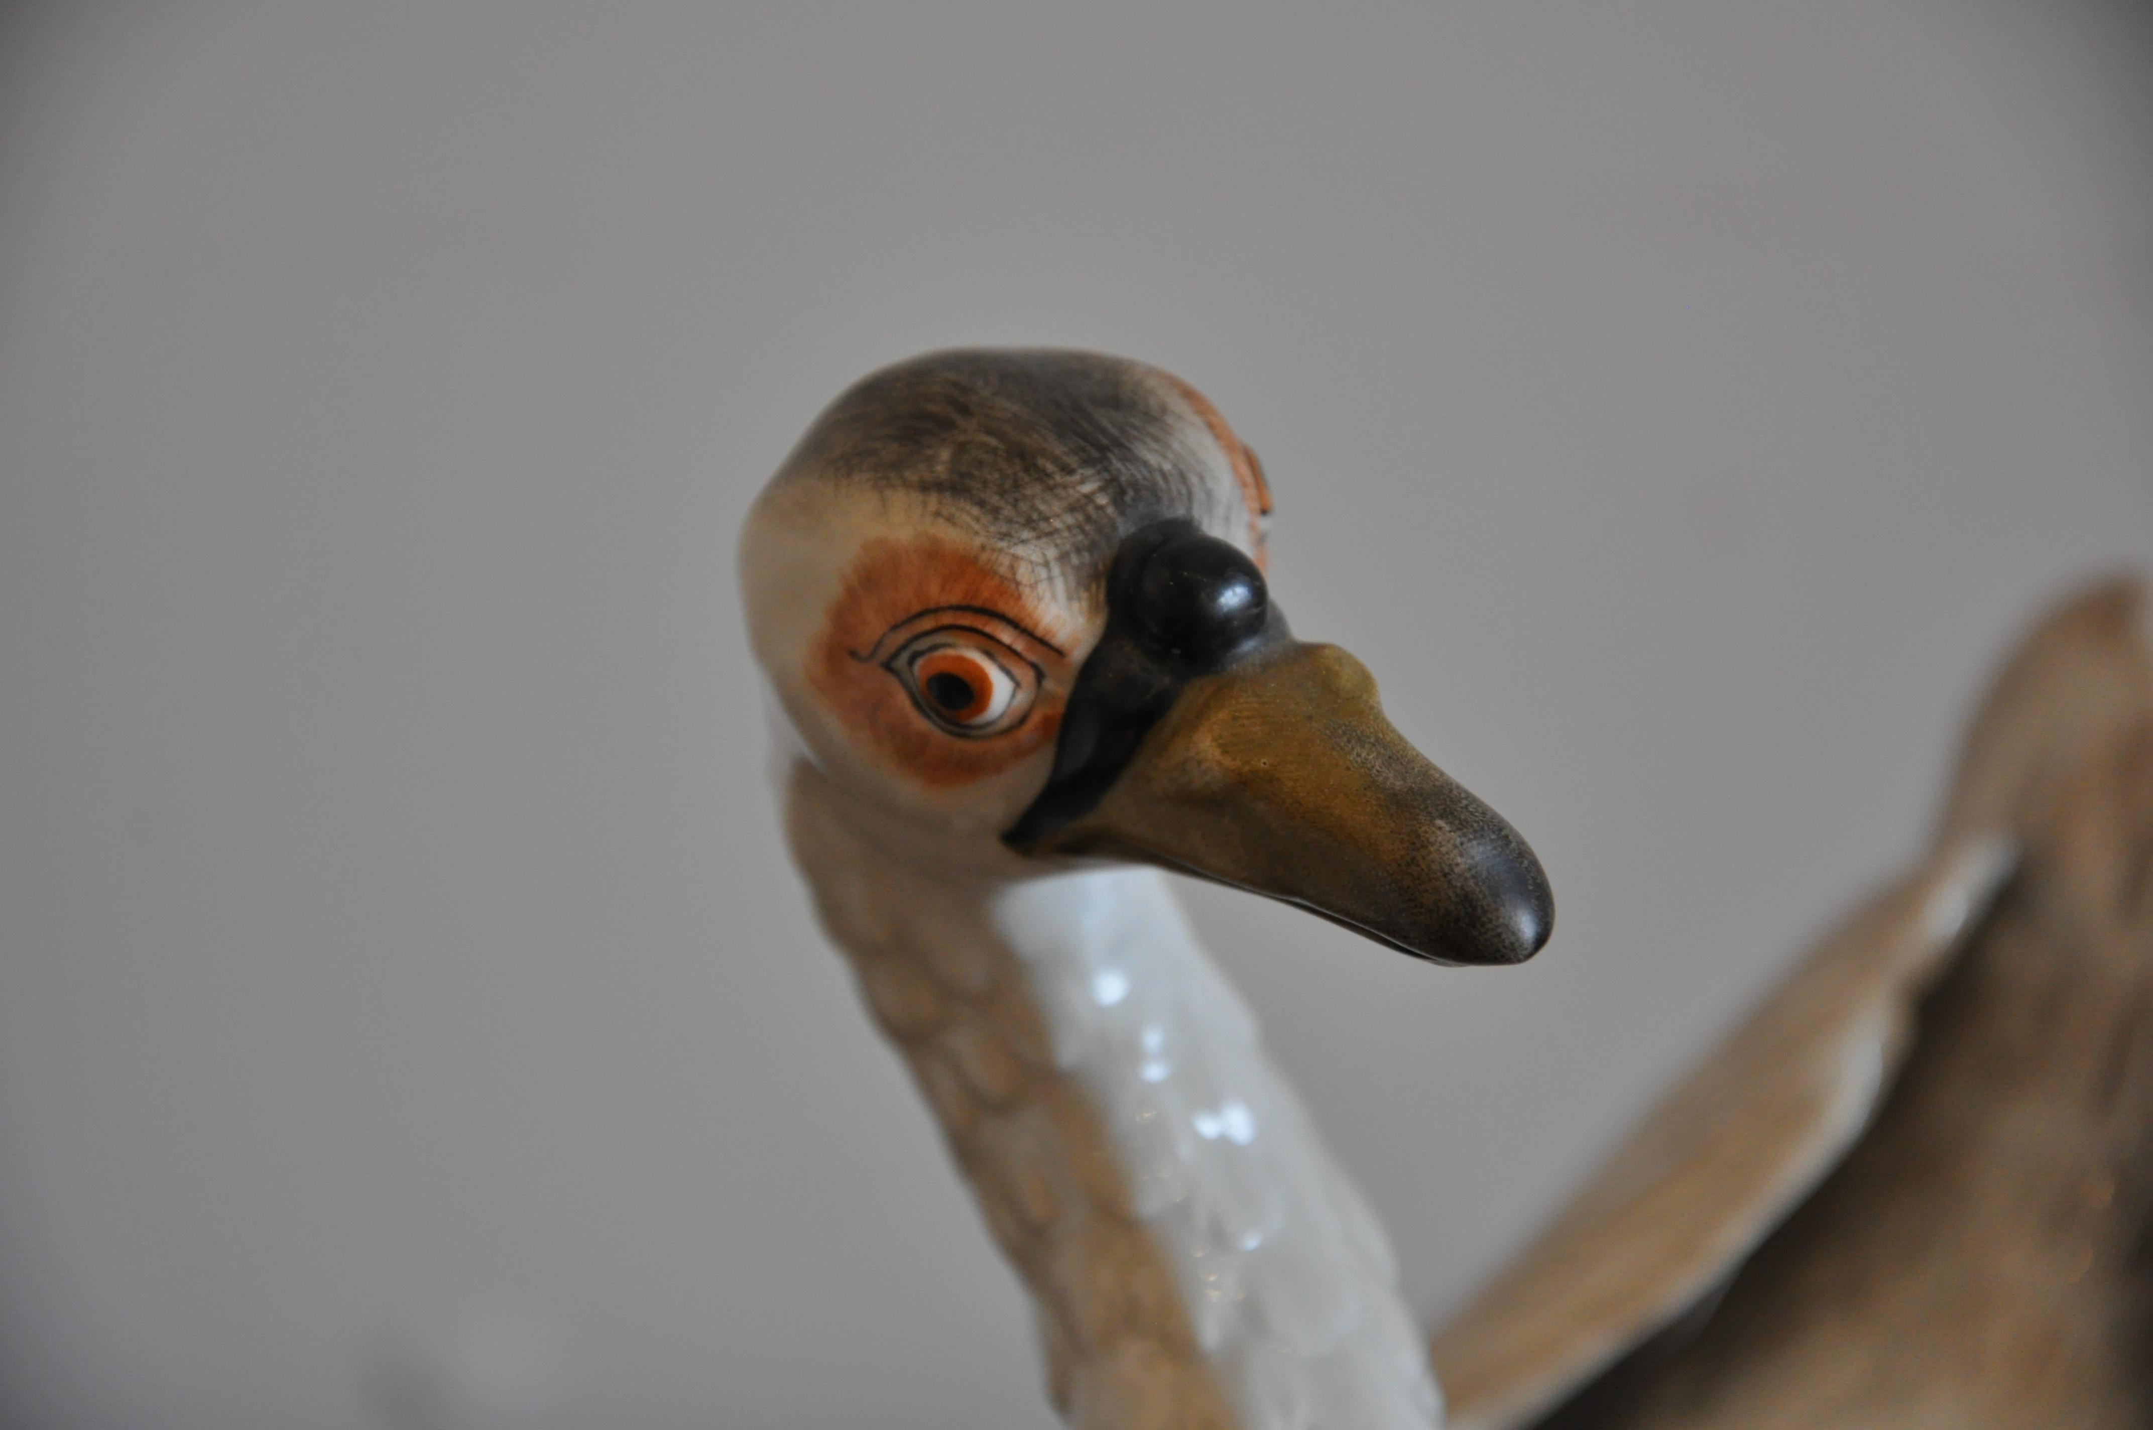
[[937, 870], [859, 816], [794, 767], [799, 864], [1038, 1301], [1072, 1424], [1436, 1426], [1389, 1243], [1167, 881]]

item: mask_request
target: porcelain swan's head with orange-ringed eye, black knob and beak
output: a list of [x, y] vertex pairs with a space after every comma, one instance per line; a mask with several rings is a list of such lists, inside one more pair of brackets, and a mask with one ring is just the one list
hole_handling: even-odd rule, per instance
[[1524, 840], [1382, 717], [1264, 577], [1253, 452], [1180, 379], [947, 351], [844, 392], [741, 541], [801, 754], [902, 853], [1012, 877], [1128, 859], [1436, 963], [1520, 963]]

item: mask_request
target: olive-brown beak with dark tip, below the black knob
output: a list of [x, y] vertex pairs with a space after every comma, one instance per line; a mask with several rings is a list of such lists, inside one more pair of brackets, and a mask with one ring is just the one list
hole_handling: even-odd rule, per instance
[[1391, 728], [1361, 661], [1290, 637], [1188, 681], [1096, 805], [1012, 844], [1251, 889], [1430, 963], [1524, 963], [1554, 928], [1518, 831]]

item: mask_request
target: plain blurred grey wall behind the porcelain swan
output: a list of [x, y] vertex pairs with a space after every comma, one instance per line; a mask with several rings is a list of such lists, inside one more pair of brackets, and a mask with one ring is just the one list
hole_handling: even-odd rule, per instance
[[2091, 0], [71, 4], [0, 28], [11, 1424], [1046, 1426], [777, 846], [732, 541], [952, 342], [1210, 392], [1539, 846], [1440, 971], [1191, 889], [1430, 1316], [2153, 564]]

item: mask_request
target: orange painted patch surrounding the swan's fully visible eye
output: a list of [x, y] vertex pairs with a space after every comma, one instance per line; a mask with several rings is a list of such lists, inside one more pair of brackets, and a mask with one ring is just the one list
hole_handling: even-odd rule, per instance
[[[870, 659], [891, 627], [930, 609], [945, 609], [952, 625], [971, 622], [973, 629], [1010, 642], [1023, 659], [1038, 665], [1038, 696], [1016, 726], [977, 739], [949, 734], [913, 704], [896, 674]], [[930, 788], [956, 788], [1053, 745], [1072, 678], [1070, 659], [1049, 644], [1055, 640], [1066, 642], [1068, 635], [1046, 627], [1038, 603], [1021, 586], [988, 571], [956, 543], [876, 536], [859, 547], [844, 573], [807, 657], [807, 678], [885, 762]], [[947, 674], [971, 683], [975, 713], [982, 713], [993, 698], [990, 676], [977, 668], [982, 657], [934, 653], [919, 661], [915, 674], [932, 674], [930, 665], [943, 659], [965, 663], [952, 663]], [[949, 717], [962, 721], [971, 715], [949, 711]]]

